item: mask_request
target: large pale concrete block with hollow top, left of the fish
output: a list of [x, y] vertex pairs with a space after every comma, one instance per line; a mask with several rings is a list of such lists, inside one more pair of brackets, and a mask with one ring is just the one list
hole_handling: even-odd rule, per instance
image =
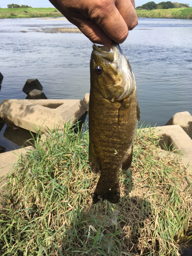
[[42, 134], [69, 121], [74, 124], [86, 111], [80, 99], [4, 99], [0, 104], [0, 116], [7, 126], [36, 132], [38, 125]]

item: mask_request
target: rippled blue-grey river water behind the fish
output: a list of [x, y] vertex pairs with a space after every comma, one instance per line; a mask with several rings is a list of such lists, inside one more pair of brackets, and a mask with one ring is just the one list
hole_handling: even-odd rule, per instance
[[[25, 99], [28, 78], [40, 81], [48, 99], [83, 99], [90, 91], [92, 43], [83, 34], [53, 33], [61, 27], [74, 26], [63, 18], [0, 19], [0, 103]], [[177, 112], [192, 114], [191, 42], [191, 19], [139, 18], [121, 45], [136, 78], [141, 123], [164, 125]], [[6, 125], [0, 145], [18, 148], [13, 130], [4, 133]]]

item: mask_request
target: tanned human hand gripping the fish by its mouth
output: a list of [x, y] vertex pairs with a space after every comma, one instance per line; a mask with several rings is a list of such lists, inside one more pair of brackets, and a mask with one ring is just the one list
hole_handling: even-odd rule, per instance
[[92, 42], [111, 48], [138, 24], [134, 0], [49, 0]]

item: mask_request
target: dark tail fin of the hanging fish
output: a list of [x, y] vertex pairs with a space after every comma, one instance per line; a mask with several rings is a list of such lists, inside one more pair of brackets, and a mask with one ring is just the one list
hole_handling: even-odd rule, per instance
[[112, 204], [117, 204], [120, 199], [119, 181], [116, 183], [106, 183], [99, 179], [94, 195], [93, 203], [96, 204], [100, 200], [108, 200]]

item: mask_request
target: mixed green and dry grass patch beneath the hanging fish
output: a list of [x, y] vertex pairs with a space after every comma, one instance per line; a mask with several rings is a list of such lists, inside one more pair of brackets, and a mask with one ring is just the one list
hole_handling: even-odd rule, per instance
[[[181, 156], [162, 156], [153, 129], [138, 129], [121, 199], [92, 204], [98, 175], [88, 163], [88, 131], [49, 131], [21, 157], [0, 206], [3, 255], [179, 255], [191, 238], [191, 182]], [[183, 183], [187, 186], [183, 187]]]

